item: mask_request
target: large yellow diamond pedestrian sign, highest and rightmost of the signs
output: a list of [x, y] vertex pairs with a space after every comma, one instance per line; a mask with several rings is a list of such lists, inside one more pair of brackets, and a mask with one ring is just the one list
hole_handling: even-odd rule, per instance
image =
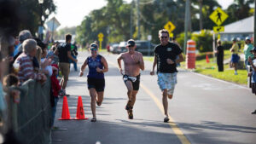
[[215, 9], [212, 14], [209, 16], [209, 18], [218, 26], [220, 26], [224, 20], [226, 20], [229, 17], [228, 14], [226, 14], [222, 9], [217, 8]]

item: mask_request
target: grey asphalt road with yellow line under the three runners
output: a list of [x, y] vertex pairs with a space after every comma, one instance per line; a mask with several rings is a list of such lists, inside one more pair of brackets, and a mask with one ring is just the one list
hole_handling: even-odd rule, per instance
[[[79, 67], [88, 55], [79, 53]], [[81, 95], [85, 117], [89, 119], [57, 120], [61, 118], [60, 99], [55, 126], [67, 130], [52, 130], [53, 144], [256, 143], [256, 115], [251, 114], [256, 109], [256, 95], [250, 89], [179, 70], [174, 96], [168, 101], [172, 120], [166, 124], [157, 78], [149, 75], [152, 63], [145, 61], [134, 119], [128, 119], [126, 88], [116, 67], [117, 55], [102, 55], [108, 60], [109, 71], [105, 73], [104, 101], [101, 107], [96, 107], [97, 122], [90, 122], [86, 77], [79, 78], [79, 72], [74, 72], [72, 66], [67, 84], [69, 111], [75, 117]]]

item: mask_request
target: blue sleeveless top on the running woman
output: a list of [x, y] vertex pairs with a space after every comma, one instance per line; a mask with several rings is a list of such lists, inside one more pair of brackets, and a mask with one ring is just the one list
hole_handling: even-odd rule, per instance
[[89, 72], [87, 78], [104, 78], [103, 72], [96, 72], [96, 68], [99, 67], [100, 69], [103, 68], [102, 64], [102, 55], [97, 55], [96, 59], [93, 59], [91, 56], [87, 58], [87, 65], [89, 67]]

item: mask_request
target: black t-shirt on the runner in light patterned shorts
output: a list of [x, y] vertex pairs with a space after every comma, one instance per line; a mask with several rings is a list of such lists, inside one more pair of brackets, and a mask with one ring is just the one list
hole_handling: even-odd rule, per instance
[[162, 73], [173, 73], [177, 72], [176, 63], [167, 64], [167, 59], [171, 59], [175, 61], [177, 59], [177, 55], [180, 55], [183, 51], [177, 46], [175, 43], [168, 43], [163, 46], [161, 44], [157, 45], [154, 48], [154, 55], [157, 60], [157, 72]]

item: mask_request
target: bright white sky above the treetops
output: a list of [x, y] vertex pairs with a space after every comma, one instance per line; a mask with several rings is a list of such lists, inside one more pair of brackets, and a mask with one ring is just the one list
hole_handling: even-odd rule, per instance
[[[222, 9], [227, 9], [228, 6], [234, 2], [234, 0], [217, 0], [222, 6]], [[79, 26], [84, 20], [84, 16], [90, 14], [90, 11], [94, 9], [101, 9], [107, 4], [106, 0], [54, 0], [57, 6], [56, 14], [50, 14], [49, 19], [55, 16], [57, 20], [61, 23], [63, 27]], [[125, 0], [125, 2], [130, 3], [131, 0]]]

